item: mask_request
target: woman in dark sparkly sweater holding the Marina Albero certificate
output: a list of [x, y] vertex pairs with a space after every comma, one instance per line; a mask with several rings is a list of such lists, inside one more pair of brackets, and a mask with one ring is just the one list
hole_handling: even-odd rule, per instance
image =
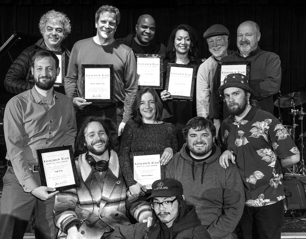
[[131, 194], [144, 196], [145, 193], [140, 190], [142, 185], [134, 180], [129, 153], [163, 151], [160, 165], [166, 165], [177, 152], [177, 133], [174, 125], [160, 120], [162, 102], [153, 88], [144, 87], [138, 91], [132, 110], [133, 118], [125, 125], [118, 158]]

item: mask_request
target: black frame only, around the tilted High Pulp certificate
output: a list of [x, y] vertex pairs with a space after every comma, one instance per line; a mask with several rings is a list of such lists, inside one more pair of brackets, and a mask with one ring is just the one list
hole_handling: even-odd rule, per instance
[[54, 148], [43, 148], [43, 149], [37, 149], [36, 150], [36, 155], [37, 155], [37, 159], [38, 159], [38, 166], [39, 166], [40, 181], [41, 181], [42, 186], [47, 187], [47, 180], [46, 180], [46, 174], [45, 174], [45, 170], [44, 170], [44, 166], [43, 166], [42, 154], [43, 153], [48, 153], [48, 152], [56, 152], [56, 151], [61, 151], [61, 150], [67, 150], [67, 149], [69, 150], [70, 161], [71, 161], [71, 166], [72, 166], [72, 170], [73, 170], [73, 177], [74, 177], [75, 184], [66, 185], [66, 186], [62, 186], [62, 187], [55, 187], [55, 188], [56, 188], [57, 191], [64, 191], [64, 190], [67, 190], [67, 189], [73, 189], [73, 188], [80, 187], [79, 177], [77, 175], [77, 170], [76, 170], [76, 163], [75, 163], [74, 157], [73, 157], [72, 145], [62, 146], [62, 147], [54, 147]]

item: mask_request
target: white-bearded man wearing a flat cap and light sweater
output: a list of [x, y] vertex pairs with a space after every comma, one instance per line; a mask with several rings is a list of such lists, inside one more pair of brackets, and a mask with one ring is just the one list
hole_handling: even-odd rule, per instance
[[234, 53], [228, 50], [230, 43], [229, 30], [215, 24], [204, 32], [203, 37], [208, 43], [212, 56], [199, 67], [196, 82], [196, 111], [198, 116], [213, 119], [217, 130], [222, 119], [223, 101], [216, 99], [217, 65], [221, 58]]

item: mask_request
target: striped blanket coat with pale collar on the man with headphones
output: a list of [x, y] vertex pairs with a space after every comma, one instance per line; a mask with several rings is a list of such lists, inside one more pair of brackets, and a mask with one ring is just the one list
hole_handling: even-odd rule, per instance
[[130, 196], [129, 190], [126, 189], [118, 156], [114, 151], [111, 151], [102, 193], [94, 180], [90, 190], [92, 196], [89, 193], [90, 181], [95, 177], [91, 178], [92, 168], [86, 162], [85, 154], [76, 160], [76, 168], [80, 187], [59, 192], [55, 197], [53, 215], [54, 223], [60, 229], [58, 238], [67, 236], [67, 226], [71, 222], [75, 221], [77, 225], [81, 225], [80, 220], [84, 220], [91, 213], [78, 228], [84, 239], [99, 239], [110, 228], [129, 225], [129, 219], [125, 215], [126, 208], [140, 222], [151, 216], [149, 203], [143, 197]]

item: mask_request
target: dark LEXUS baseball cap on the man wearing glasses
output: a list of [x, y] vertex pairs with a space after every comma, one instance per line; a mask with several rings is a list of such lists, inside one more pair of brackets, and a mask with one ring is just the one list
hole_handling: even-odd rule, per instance
[[183, 185], [173, 178], [162, 178], [152, 184], [152, 193], [147, 199], [152, 197], [173, 197], [183, 195]]

